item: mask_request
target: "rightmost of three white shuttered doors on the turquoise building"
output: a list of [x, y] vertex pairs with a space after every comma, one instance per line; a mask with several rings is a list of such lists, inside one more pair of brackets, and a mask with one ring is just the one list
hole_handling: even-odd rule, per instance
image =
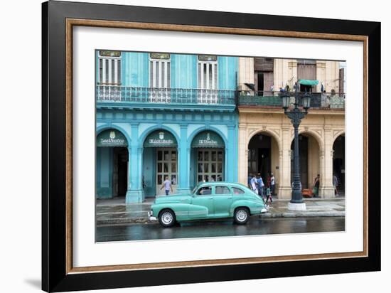
[[218, 57], [198, 55], [198, 102], [216, 104], [218, 102]]

